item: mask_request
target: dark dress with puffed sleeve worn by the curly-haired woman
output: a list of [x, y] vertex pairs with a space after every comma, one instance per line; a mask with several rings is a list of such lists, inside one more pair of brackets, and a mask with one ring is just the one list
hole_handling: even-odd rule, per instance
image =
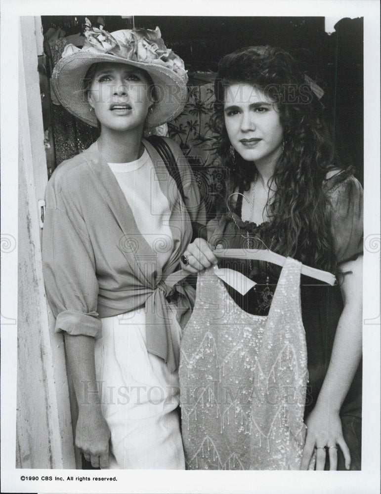
[[[358, 180], [342, 171], [326, 180], [325, 190], [330, 203], [331, 251], [337, 265], [356, 259], [363, 253], [363, 190]], [[240, 191], [243, 192], [243, 191]], [[208, 224], [208, 237], [230, 248], [265, 248], [271, 240], [266, 236], [268, 223], [256, 225], [241, 220], [242, 196], [235, 211], [217, 215]], [[264, 242], [264, 244], [262, 243]], [[230, 267], [251, 276], [257, 287], [242, 296], [229, 286], [230, 295], [242, 309], [257, 315], [267, 315], [280, 270], [268, 270], [266, 263], [223, 259], [220, 267]], [[315, 266], [318, 267], [318, 266]], [[270, 275], [266, 287], [266, 277]], [[267, 280], [268, 281], [268, 280]], [[305, 417], [316, 404], [331, 358], [336, 328], [343, 309], [339, 285], [331, 287], [312, 278], [301, 276], [301, 313], [306, 335], [308, 374]], [[356, 371], [340, 410], [343, 436], [351, 454], [351, 470], [361, 469], [361, 398], [362, 362]], [[328, 455], [327, 455], [328, 456]], [[343, 455], [338, 451], [338, 469], [345, 470]]]

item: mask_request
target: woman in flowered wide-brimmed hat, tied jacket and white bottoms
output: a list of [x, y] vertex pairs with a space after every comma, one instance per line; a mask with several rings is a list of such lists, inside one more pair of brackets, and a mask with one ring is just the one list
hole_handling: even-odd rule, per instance
[[101, 468], [184, 468], [178, 353], [192, 288], [165, 279], [205, 209], [170, 139], [184, 201], [143, 129], [186, 99], [183, 61], [160, 30], [88, 27], [65, 48], [52, 83], [61, 104], [100, 128], [46, 190], [43, 270], [79, 405], [76, 446]]

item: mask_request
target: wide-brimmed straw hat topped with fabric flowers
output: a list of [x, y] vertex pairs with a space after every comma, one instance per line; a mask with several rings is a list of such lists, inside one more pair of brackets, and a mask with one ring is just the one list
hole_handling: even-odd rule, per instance
[[[87, 20], [86, 20], [87, 21]], [[52, 74], [52, 85], [60, 103], [74, 116], [97, 126], [84, 91], [84, 78], [97, 62], [117, 62], [145, 70], [155, 84], [157, 101], [146, 119], [147, 127], [169, 122], [186, 102], [188, 77], [184, 62], [168, 49], [160, 29], [124, 29], [108, 33], [87, 22], [83, 48], [69, 44]]]

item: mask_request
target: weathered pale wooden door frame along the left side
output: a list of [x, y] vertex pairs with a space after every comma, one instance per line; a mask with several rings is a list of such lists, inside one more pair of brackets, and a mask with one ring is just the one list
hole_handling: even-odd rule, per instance
[[16, 467], [76, 468], [63, 337], [54, 332], [42, 278], [42, 54], [41, 17], [20, 17]]

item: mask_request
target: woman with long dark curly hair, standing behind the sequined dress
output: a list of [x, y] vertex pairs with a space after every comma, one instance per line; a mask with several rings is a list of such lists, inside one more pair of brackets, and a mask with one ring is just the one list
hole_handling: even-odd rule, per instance
[[[363, 193], [351, 170], [335, 161], [322, 105], [311, 87], [301, 64], [280, 48], [249, 47], [222, 58], [213, 122], [217, 153], [229, 180], [217, 216], [208, 224], [209, 242], [196, 239], [188, 246], [184, 269], [195, 273], [216, 263], [214, 247], [222, 245], [268, 248], [336, 275], [333, 287], [305, 275], [300, 280], [309, 381], [299, 466], [357, 470]], [[269, 262], [237, 259], [223, 259], [219, 266], [233, 267], [257, 283], [245, 295], [227, 289], [245, 312], [267, 316], [280, 269]], [[184, 354], [190, 353], [189, 342], [185, 333]], [[200, 434], [208, 435], [206, 429], [204, 421]], [[227, 449], [229, 441], [225, 438]], [[187, 453], [186, 442], [184, 447]]]

